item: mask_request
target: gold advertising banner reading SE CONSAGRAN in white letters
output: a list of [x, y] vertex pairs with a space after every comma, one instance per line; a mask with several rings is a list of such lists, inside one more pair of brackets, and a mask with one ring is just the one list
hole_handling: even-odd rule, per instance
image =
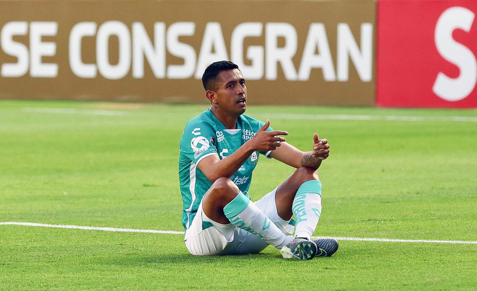
[[374, 0], [0, 1], [0, 98], [205, 103], [239, 65], [250, 104], [373, 106]]

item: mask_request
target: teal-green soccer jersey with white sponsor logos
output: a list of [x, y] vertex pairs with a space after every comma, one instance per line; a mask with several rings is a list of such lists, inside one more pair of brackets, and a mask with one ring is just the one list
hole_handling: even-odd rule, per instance
[[[237, 119], [237, 129], [226, 129], [210, 109], [187, 122], [180, 140], [179, 155], [180, 191], [184, 202], [182, 225], [186, 230], [196, 215], [202, 197], [212, 186], [197, 164], [206, 156], [217, 155], [220, 159], [226, 158], [252, 138], [264, 124], [242, 114]], [[273, 130], [271, 127], [267, 129], [271, 130]], [[257, 166], [259, 153], [269, 157], [270, 152], [253, 152], [230, 177], [230, 180], [249, 198], [252, 171]]]

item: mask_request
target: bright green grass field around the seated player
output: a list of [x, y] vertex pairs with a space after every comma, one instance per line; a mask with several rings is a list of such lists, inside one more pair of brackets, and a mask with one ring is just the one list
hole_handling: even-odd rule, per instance
[[[178, 143], [205, 108], [0, 101], [0, 222], [183, 231]], [[328, 138], [316, 236], [477, 241], [476, 110], [249, 106], [247, 114], [269, 118], [303, 150], [313, 132]], [[261, 157], [251, 197], [292, 171]], [[177, 234], [0, 225], [0, 290], [475, 290], [476, 260], [477, 244], [348, 240], [310, 261], [284, 260], [272, 247], [194, 257]]]

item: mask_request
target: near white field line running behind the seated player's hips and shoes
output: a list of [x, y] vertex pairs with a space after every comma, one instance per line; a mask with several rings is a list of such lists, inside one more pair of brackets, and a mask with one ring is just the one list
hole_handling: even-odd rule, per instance
[[[145, 232], [145, 233], [165, 233], [165, 234], [182, 234], [182, 235], [184, 234], [183, 231], [171, 231], [171, 230], [99, 228], [99, 227], [91, 227], [91, 226], [43, 224], [43, 223], [32, 223], [32, 222], [11, 222], [11, 221], [7, 221], [7, 222], [0, 222], [0, 225], [22, 225], [22, 226], [45, 227], [45, 228], [104, 230], [104, 231], [120, 231], [120, 232]], [[319, 239], [319, 238], [334, 238], [334, 239], [338, 239], [338, 240], [354, 240], [354, 241], [426, 242], [426, 243], [477, 244], [477, 241], [466, 241], [466, 240], [375, 239], [375, 238], [346, 238], [346, 237], [313, 237], [313, 239]]]

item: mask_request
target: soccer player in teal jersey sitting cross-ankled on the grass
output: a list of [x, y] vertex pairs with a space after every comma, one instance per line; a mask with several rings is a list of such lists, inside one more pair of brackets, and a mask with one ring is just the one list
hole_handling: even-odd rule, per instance
[[[312, 151], [286, 143], [266, 123], [244, 114], [247, 87], [233, 62], [214, 62], [202, 76], [211, 106], [189, 120], [180, 140], [179, 179], [185, 242], [193, 255], [258, 253], [269, 244], [284, 258], [331, 256], [336, 239], [311, 240], [321, 215], [316, 169], [330, 153], [327, 139]], [[296, 168], [283, 183], [252, 202], [249, 186], [259, 154]], [[295, 215], [296, 221], [291, 219]], [[295, 236], [290, 237], [295, 230]]]

